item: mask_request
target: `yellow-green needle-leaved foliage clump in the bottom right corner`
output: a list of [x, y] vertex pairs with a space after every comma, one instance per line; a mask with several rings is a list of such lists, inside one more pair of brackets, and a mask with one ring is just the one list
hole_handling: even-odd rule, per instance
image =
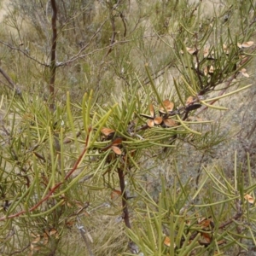
[[144, 255], [221, 255], [234, 247], [247, 248], [248, 240], [255, 244], [255, 206], [244, 196], [255, 189], [255, 182], [251, 179], [246, 185], [236, 165], [235, 179], [218, 166], [205, 169], [206, 176], [196, 190], [189, 186], [190, 180], [184, 185], [180, 182], [178, 170], [170, 188], [162, 177], [157, 202], [141, 195], [143, 207], [134, 211], [134, 230], [127, 230], [131, 240]]

